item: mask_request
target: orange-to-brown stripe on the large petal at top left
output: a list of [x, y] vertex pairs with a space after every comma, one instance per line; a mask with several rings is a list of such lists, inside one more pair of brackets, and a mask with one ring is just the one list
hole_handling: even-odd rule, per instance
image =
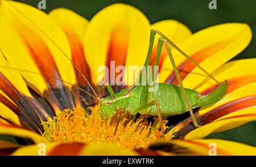
[[[61, 77], [46, 42], [23, 23], [16, 23], [14, 27], [47, 83], [48, 89], [44, 92], [47, 100], [55, 110], [72, 109], [73, 102], [69, 89], [65, 88], [63, 82], [54, 79], [61, 79]], [[64, 57], [64, 55], [60, 56]]]

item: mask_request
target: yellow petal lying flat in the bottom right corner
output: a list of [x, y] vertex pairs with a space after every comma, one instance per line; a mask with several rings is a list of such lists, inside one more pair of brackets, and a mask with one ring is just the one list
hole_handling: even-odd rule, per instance
[[[181, 155], [256, 155], [256, 148], [247, 144], [220, 139], [172, 140]], [[214, 152], [216, 148], [216, 152]]]

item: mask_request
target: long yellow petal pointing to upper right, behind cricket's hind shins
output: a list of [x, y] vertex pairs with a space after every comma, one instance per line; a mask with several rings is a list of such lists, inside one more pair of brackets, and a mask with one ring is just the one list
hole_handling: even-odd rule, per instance
[[[251, 36], [251, 29], [247, 24], [226, 23], [203, 29], [178, 46], [211, 73], [245, 49]], [[174, 49], [172, 50], [184, 86], [195, 88], [206, 78], [206, 75], [185, 59], [183, 55]], [[159, 80], [160, 82], [177, 84], [168, 57], [164, 59]]]

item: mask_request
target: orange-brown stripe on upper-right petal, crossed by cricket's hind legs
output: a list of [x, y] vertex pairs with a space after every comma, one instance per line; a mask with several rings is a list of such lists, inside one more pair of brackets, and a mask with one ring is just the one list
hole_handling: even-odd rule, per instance
[[[195, 62], [201, 63], [202, 61], [204, 61], [204, 59], [207, 59], [212, 54], [217, 53], [219, 50], [225, 48], [226, 45], [227, 45], [227, 42], [218, 42], [216, 44], [207, 46], [206, 48], [203, 48], [203, 49], [199, 50], [199, 52], [193, 54], [191, 56], [191, 58]], [[182, 56], [182, 55], [180, 55], [180, 56]], [[191, 72], [195, 67], [196, 66], [193, 65], [193, 63], [190, 62], [188, 59], [186, 59], [180, 65], [177, 65], [177, 68], [180, 73], [180, 78], [183, 80], [189, 74], [189, 72]], [[168, 76], [165, 83], [177, 85], [177, 79], [175, 77], [174, 71], [172, 71], [170, 76]]]

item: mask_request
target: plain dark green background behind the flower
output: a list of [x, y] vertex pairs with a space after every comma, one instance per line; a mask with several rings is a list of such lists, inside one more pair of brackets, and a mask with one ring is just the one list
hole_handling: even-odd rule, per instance
[[[38, 0], [19, 1], [26, 2], [33, 6], [37, 6], [39, 2]], [[256, 34], [255, 0], [217, 0], [216, 10], [209, 10], [209, 0], [46, 0], [46, 2], [46, 12], [56, 7], [67, 7], [88, 20], [105, 6], [122, 2], [139, 8], [151, 23], [163, 19], [176, 19], [187, 25], [192, 32], [196, 32], [211, 25], [227, 22], [241, 22], [249, 24], [253, 30], [253, 34]], [[255, 45], [256, 38], [253, 37], [251, 44], [234, 59], [256, 57]], [[210, 135], [208, 138], [229, 139], [256, 146], [256, 123], [247, 123], [233, 130]]]

